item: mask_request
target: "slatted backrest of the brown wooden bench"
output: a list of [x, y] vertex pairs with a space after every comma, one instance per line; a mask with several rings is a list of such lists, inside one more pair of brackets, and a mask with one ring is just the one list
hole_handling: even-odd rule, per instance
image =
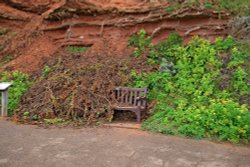
[[146, 106], [146, 101], [140, 101], [138, 98], [146, 97], [147, 88], [127, 88], [117, 87], [115, 89], [115, 98], [120, 103], [126, 103], [133, 106]]

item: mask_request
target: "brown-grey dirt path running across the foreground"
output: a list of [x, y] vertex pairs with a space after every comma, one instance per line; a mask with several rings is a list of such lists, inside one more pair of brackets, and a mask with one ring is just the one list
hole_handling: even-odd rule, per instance
[[0, 120], [1, 167], [249, 167], [250, 148], [133, 129], [44, 129]]

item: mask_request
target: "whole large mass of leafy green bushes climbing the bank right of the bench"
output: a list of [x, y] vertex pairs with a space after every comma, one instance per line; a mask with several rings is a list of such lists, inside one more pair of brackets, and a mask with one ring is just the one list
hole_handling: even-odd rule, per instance
[[214, 44], [195, 37], [187, 46], [175, 39], [154, 46], [158, 71], [131, 74], [133, 86], [148, 87], [148, 98], [157, 101], [143, 127], [195, 138], [248, 141], [250, 112], [244, 103], [249, 100], [241, 100], [250, 92], [243, 68], [248, 53], [231, 37]]

